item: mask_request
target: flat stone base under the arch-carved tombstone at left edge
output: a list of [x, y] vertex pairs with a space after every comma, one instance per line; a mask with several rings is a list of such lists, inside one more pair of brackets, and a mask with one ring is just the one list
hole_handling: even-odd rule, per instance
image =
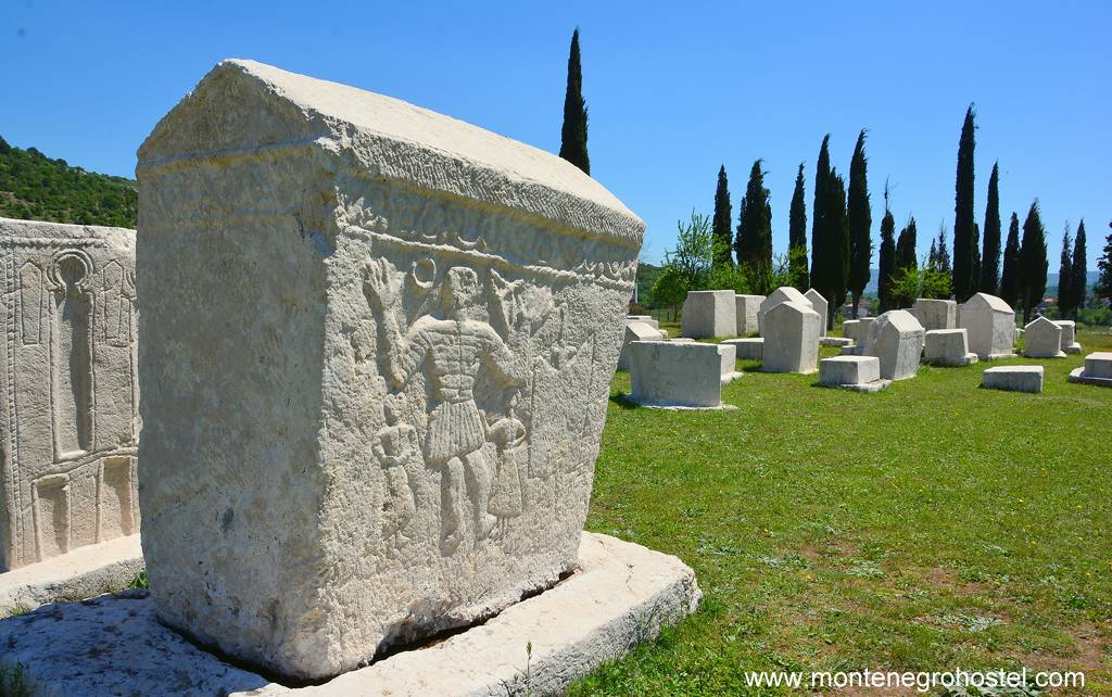
[[0, 616], [13, 609], [120, 590], [142, 569], [138, 535], [79, 547], [0, 574]]

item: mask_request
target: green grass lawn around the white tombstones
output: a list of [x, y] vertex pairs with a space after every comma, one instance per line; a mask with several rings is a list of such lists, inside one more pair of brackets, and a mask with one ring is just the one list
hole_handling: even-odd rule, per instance
[[[1078, 340], [1112, 350], [1109, 333]], [[1045, 366], [1043, 392], [979, 389], [1009, 362]], [[737, 410], [612, 399], [587, 528], [678, 556], [706, 595], [573, 694], [775, 695], [744, 671], [1026, 666], [1086, 673], [1062, 694], [1112, 695], [1112, 389], [1066, 382], [1080, 365], [923, 366], [862, 395], [742, 360], [723, 390]], [[617, 374], [612, 395], [628, 389]]]

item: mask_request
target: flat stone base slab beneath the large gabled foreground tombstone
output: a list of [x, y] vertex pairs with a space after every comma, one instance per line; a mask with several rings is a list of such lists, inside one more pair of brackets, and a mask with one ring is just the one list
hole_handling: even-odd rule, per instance
[[555, 695], [702, 597], [679, 559], [606, 535], [583, 534], [579, 565], [485, 624], [318, 686], [285, 687], [224, 663], [161, 625], [145, 591], [0, 620], [0, 664], [22, 664], [32, 691], [48, 695]]

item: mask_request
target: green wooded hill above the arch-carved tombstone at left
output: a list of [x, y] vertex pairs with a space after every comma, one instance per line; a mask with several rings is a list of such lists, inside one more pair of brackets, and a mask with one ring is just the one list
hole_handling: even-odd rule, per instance
[[0, 217], [135, 228], [139, 186], [0, 138]]

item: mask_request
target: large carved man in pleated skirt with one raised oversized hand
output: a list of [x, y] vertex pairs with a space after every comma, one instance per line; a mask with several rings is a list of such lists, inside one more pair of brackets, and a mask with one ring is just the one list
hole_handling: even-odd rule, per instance
[[441, 469], [440, 548], [447, 554], [460, 542], [465, 476], [474, 484], [477, 541], [489, 536], [497, 521], [487, 509], [490, 464], [481, 452], [487, 426], [475, 402], [475, 380], [486, 369], [505, 386], [520, 385], [525, 370], [494, 328], [476, 319], [481, 287], [473, 269], [448, 269], [441, 286], [444, 318], [424, 316], [405, 332], [397, 323], [398, 298], [388, 269], [384, 261], [369, 262], [364, 293], [387, 335], [387, 378], [400, 390], [427, 368], [430, 402], [425, 461]]

